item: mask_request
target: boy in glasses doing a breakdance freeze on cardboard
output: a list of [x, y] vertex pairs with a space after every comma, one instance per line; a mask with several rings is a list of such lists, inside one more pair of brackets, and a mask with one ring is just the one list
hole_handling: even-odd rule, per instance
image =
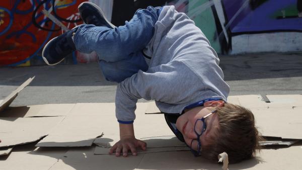
[[253, 155], [259, 138], [254, 116], [226, 103], [230, 88], [217, 54], [185, 14], [173, 6], [148, 7], [117, 28], [92, 3], [82, 3], [79, 12], [86, 25], [53, 38], [42, 56], [54, 65], [74, 50], [96, 51], [105, 78], [119, 82], [120, 141], [110, 154], [136, 155], [137, 147], [146, 148], [133, 130], [136, 102], [143, 98], [156, 101], [171, 130], [196, 156], [216, 160], [225, 151], [232, 163]]

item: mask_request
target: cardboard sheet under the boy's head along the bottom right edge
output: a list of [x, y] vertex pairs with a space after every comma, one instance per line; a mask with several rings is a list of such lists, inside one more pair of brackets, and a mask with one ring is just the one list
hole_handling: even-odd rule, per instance
[[[229, 169], [300, 169], [301, 145], [280, 149], [263, 149], [256, 158], [229, 164]], [[146, 153], [136, 169], [221, 169], [221, 164], [190, 151]]]

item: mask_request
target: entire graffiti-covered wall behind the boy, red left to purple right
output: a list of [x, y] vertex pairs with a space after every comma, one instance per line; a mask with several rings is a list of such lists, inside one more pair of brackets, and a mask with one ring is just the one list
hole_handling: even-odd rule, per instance
[[[42, 9], [70, 29], [82, 23], [77, 7], [84, 1], [1, 1], [0, 66], [44, 64], [41, 49], [62, 31], [44, 16]], [[95, 1], [102, 4], [109, 0]], [[118, 6], [125, 2], [116, 0], [113, 7], [111, 2], [113, 13], [121, 13]], [[179, 12], [186, 13], [218, 53], [302, 51], [302, 0], [137, 0], [129, 4], [133, 6], [127, 11], [129, 14], [124, 14], [127, 13], [124, 11], [122, 15], [112, 14], [112, 20], [117, 22], [118, 17], [122, 23], [129, 20], [137, 8], [149, 5], [174, 5]], [[73, 58], [71, 56], [71, 63], [77, 61], [75, 55], [80, 62], [96, 60], [96, 55], [78, 52], [73, 54]]]

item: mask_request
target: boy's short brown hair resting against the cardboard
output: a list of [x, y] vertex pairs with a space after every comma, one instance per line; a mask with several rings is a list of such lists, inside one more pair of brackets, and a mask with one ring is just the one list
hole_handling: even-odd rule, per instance
[[218, 154], [226, 152], [230, 163], [253, 157], [263, 140], [255, 127], [253, 113], [230, 103], [216, 109], [219, 125], [210, 144], [202, 146], [202, 156], [216, 161]]

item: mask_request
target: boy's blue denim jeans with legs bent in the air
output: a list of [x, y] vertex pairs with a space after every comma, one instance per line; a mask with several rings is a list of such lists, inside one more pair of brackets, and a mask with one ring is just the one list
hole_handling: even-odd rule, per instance
[[161, 7], [137, 10], [124, 26], [110, 29], [81, 25], [73, 37], [75, 48], [83, 53], [96, 51], [99, 65], [109, 81], [121, 82], [138, 72], [146, 71], [142, 50], [154, 34]]

